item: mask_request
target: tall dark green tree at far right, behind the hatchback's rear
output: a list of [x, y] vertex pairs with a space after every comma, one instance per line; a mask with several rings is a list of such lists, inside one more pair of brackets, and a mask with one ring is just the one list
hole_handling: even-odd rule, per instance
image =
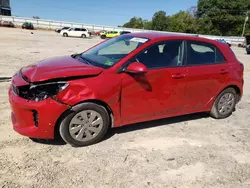
[[249, 8], [250, 0], [199, 0], [197, 17], [210, 20], [221, 35], [240, 35]]

